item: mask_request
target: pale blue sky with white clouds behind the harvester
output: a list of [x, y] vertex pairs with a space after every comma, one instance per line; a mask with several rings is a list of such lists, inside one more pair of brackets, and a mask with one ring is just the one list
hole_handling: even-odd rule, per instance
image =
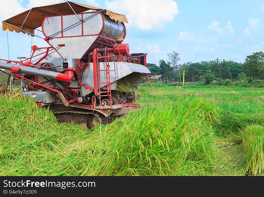
[[[0, 19], [64, 1], [0, 0]], [[125, 14], [129, 23], [125, 24], [123, 43], [129, 43], [131, 53], [148, 53], [148, 63], [167, 61], [167, 53], [173, 51], [179, 53], [181, 64], [216, 58], [244, 62], [247, 55], [264, 51], [264, 0], [74, 1]], [[0, 58], [8, 59], [8, 46], [10, 60], [29, 57], [31, 42], [38, 47], [48, 46], [38, 37], [1, 30]]]

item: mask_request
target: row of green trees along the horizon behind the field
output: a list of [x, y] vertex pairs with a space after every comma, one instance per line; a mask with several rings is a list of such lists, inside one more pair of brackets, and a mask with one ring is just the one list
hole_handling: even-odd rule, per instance
[[185, 70], [185, 82], [205, 81], [209, 84], [217, 79], [247, 80], [264, 79], [264, 53], [254, 52], [244, 63], [215, 59], [212, 61], [186, 62], [178, 64], [179, 53], [168, 53], [168, 61], [160, 60], [159, 65], [147, 63], [152, 75], [162, 75], [168, 82], [180, 81]]

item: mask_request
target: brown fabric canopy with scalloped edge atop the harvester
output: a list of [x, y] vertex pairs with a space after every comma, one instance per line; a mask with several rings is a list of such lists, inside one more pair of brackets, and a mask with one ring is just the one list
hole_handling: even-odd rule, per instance
[[[68, 3], [72, 8], [69, 6]], [[23, 13], [11, 17], [10, 19], [6, 19], [2, 21], [2, 28], [3, 31], [8, 29], [9, 31], [16, 31], [17, 33], [22, 32], [25, 34], [26, 31], [28, 31], [29, 33], [34, 34], [34, 30], [42, 25], [42, 21], [45, 16], [74, 14], [72, 9], [74, 10], [75, 13], [82, 13], [88, 10], [95, 10], [95, 11], [102, 10], [101, 12], [107, 14], [113, 20], [123, 23], [128, 23], [128, 20], [124, 14], [119, 14], [99, 7], [93, 7], [81, 3], [67, 1], [64, 3], [58, 3], [53, 5], [33, 7], [30, 10], [27, 10]], [[22, 30], [20, 30], [19, 28]]]

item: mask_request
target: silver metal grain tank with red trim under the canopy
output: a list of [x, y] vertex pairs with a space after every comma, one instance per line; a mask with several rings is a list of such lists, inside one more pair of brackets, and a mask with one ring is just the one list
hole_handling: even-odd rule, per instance
[[48, 42], [53, 46], [65, 44], [58, 49], [63, 58], [85, 57], [95, 48], [115, 44], [116, 37], [126, 36], [125, 25], [106, 14], [86, 12], [77, 16], [46, 16], [43, 20], [42, 31]]

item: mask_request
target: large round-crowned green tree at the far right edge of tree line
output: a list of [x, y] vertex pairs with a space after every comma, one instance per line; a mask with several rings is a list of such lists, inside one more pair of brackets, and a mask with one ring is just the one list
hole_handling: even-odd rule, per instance
[[250, 77], [250, 81], [258, 79], [264, 73], [264, 53], [260, 51], [247, 55], [243, 67], [244, 73]]

